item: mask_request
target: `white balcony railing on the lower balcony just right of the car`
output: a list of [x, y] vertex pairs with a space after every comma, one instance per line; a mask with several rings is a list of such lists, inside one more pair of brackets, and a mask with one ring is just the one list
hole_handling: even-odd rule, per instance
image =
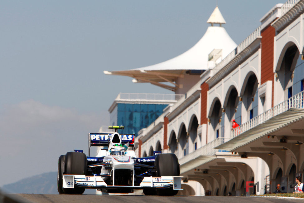
[[230, 140], [229, 138], [219, 137], [215, 140], [207, 143], [205, 146], [198, 148], [197, 150], [187, 154], [186, 156], [178, 160], [179, 164], [182, 165], [190, 160], [193, 160], [199, 156], [212, 156], [215, 155], [218, 149], [214, 149], [216, 146], [223, 144], [224, 142]]

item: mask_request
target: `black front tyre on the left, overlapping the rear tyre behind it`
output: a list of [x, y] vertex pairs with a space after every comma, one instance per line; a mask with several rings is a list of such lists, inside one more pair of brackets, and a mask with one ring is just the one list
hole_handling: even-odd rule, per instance
[[[87, 172], [88, 160], [84, 153], [68, 152], [65, 154], [65, 170], [64, 174], [85, 175]], [[74, 188], [63, 188], [65, 194], [84, 193], [85, 188], [74, 185]]]

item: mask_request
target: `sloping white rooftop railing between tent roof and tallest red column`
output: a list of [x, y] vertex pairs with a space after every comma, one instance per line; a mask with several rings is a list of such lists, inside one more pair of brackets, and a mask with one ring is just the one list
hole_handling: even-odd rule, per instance
[[258, 27], [255, 31], [253, 31], [243, 42], [241, 42], [236, 50], [234, 49], [230, 52], [219, 64], [217, 64], [213, 68], [213, 75], [219, 72], [223, 67], [225, 67], [236, 55], [242, 52], [246, 47], [248, 47], [257, 37], [261, 35], [261, 29]]

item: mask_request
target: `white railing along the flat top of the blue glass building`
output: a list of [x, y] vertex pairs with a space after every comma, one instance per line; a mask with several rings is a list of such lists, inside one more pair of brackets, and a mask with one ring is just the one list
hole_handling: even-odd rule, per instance
[[177, 101], [183, 94], [119, 93], [115, 100], [166, 100]]

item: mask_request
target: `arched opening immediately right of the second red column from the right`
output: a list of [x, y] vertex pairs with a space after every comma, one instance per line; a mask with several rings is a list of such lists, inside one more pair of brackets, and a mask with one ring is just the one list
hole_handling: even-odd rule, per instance
[[215, 139], [218, 137], [221, 137], [221, 117], [222, 117], [222, 111], [221, 111], [222, 105], [218, 98], [216, 98], [216, 101], [214, 102], [213, 109], [211, 110], [209, 119], [210, 124], [215, 131]]

